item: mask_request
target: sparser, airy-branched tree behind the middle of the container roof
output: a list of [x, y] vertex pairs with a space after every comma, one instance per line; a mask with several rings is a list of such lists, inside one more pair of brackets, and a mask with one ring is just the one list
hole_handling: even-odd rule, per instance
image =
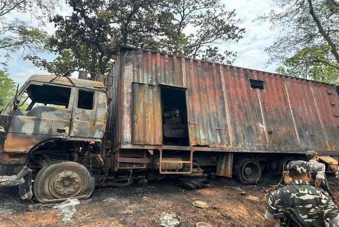
[[[236, 53], [220, 52], [218, 45], [238, 42], [245, 28], [236, 23], [235, 10], [226, 11], [221, 0], [169, 0], [174, 31], [165, 42], [167, 52], [219, 63], [232, 63]], [[192, 29], [194, 28], [194, 29]]]

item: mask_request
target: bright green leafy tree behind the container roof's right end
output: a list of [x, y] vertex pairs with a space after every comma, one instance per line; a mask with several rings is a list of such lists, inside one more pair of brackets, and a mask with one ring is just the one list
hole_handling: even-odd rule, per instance
[[[331, 58], [332, 57], [332, 58]], [[332, 62], [331, 62], [332, 61]], [[324, 64], [326, 62], [326, 64]], [[328, 45], [304, 47], [288, 58], [276, 72], [304, 79], [339, 83], [339, 69]]]

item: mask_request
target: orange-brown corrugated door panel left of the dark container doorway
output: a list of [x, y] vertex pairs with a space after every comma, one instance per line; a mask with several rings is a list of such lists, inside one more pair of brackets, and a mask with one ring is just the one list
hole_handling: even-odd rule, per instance
[[133, 83], [133, 144], [162, 144], [160, 87]]

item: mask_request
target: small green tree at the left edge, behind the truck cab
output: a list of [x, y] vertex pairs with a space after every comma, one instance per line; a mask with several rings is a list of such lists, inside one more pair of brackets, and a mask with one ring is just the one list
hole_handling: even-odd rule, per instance
[[0, 113], [14, 97], [15, 92], [14, 81], [4, 71], [0, 70]]

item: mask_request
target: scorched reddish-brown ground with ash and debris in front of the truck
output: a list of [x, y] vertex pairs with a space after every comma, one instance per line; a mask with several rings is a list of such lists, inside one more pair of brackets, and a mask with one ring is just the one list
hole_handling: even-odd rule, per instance
[[[181, 227], [195, 227], [197, 222], [213, 227], [259, 227], [264, 220], [267, 190], [279, 181], [280, 177], [266, 174], [256, 185], [219, 178], [199, 190], [182, 189], [173, 180], [96, 188], [89, 200], [74, 206], [76, 211], [66, 222], [58, 204], [22, 201], [17, 185], [5, 179], [0, 184], [0, 227], [159, 227], [163, 212], [176, 214]], [[329, 181], [339, 199], [339, 181], [333, 177]], [[195, 200], [209, 207], [195, 207]]]

